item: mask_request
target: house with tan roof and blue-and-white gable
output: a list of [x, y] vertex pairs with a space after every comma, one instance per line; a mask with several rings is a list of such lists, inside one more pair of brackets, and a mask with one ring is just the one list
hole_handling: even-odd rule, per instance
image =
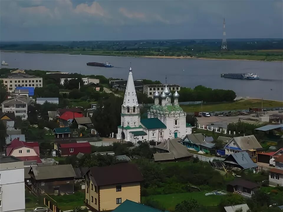
[[225, 145], [224, 148], [225, 155], [246, 151], [251, 157], [253, 157], [252, 159], [254, 159], [254, 161], [256, 161], [256, 151], [262, 149], [254, 135], [234, 137]]

